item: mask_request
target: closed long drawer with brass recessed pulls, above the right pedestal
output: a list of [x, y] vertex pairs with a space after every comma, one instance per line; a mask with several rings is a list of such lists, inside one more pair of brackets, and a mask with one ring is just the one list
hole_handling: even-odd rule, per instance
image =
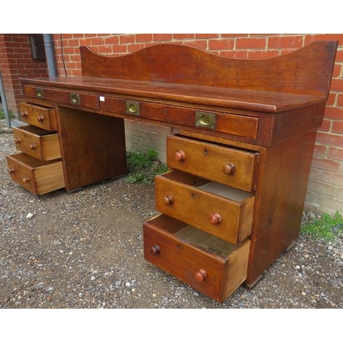
[[106, 97], [102, 108], [107, 112], [134, 117], [155, 119], [165, 123], [223, 132], [239, 137], [257, 138], [259, 118], [232, 113], [207, 112], [180, 106], [135, 102], [115, 97]]

